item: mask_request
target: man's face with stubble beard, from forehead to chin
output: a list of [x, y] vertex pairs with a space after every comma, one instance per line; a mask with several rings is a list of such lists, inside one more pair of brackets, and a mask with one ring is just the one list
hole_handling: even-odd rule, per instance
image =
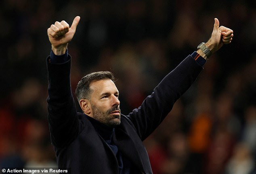
[[112, 80], [99, 80], [90, 84], [92, 117], [107, 125], [120, 125], [119, 92]]

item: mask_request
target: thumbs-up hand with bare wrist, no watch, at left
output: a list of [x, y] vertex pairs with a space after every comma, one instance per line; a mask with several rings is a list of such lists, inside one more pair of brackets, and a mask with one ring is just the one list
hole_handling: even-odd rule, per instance
[[56, 21], [54, 25], [52, 24], [50, 28], [48, 28], [48, 38], [52, 44], [52, 51], [55, 55], [62, 55], [66, 52], [67, 43], [72, 40], [76, 33], [76, 27], [78, 26], [79, 21], [80, 16], [76, 16], [70, 28], [65, 20], [62, 20], [61, 22]]

